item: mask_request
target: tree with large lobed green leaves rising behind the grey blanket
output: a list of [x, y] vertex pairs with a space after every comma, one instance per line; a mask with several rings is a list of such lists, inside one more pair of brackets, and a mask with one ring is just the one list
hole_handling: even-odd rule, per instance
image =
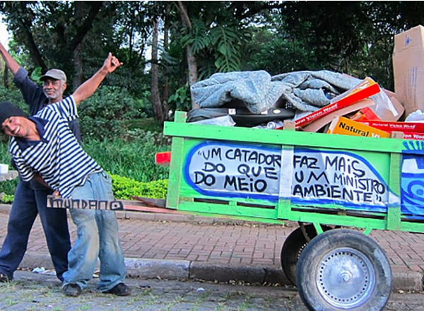
[[[278, 1], [174, 1], [181, 27], [173, 40], [185, 47], [188, 82], [216, 72], [239, 71], [242, 45], [249, 40], [248, 25], [261, 12], [278, 7]], [[182, 33], [182, 35], [181, 35]], [[196, 104], [192, 102], [192, 109]]]

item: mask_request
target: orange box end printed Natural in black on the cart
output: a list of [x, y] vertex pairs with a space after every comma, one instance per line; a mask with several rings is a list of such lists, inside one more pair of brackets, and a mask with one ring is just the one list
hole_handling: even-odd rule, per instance
[[334, 118], [327, 133], [379, 138], [389, 138], [391, 136], [387, 131], [382, 131], [345, 117]]

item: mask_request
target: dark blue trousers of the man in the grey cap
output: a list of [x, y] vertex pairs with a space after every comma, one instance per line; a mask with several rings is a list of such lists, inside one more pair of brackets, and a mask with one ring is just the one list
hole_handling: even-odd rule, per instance
[[52, 194], [52, 190], [38, 182], [18, 181], [8, 218], [7, 235], [0, 250], [0, 272], [8, 278], [13, 278], [13, 272], [22, 261], [31, 228], [37, 215], [40, 215], [57, 278], [63, 281], [62, 274], [68, 269], [67, 254], [71, 250], [68, 219], [65, 209], [47, 208], [48, 194]]

